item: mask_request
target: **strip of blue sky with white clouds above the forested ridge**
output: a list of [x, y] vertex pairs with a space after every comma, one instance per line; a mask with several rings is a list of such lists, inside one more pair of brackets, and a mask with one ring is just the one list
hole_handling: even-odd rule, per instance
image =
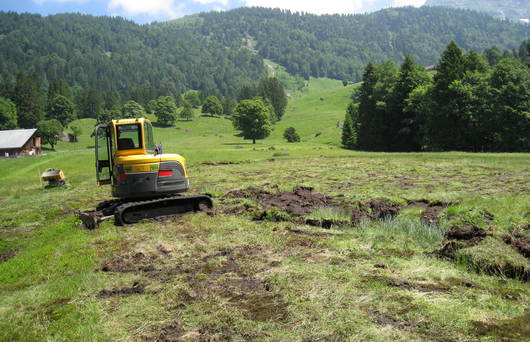
[[0, 11], [49, 15], [79, 12], [117, 15], [138, 23], [242, 6], [279, 7], [315, 14], [363, 13], [390, 6], [421, 6], [425, 0], [0, 0]]

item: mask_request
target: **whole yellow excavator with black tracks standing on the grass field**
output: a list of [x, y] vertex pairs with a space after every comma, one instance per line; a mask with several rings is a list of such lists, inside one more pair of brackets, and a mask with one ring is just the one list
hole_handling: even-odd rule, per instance
[[97, 184], [110, 184], [116, 199], [100, 203], [96, 211], [79, 213], [85, 227], [96, 228], [110, 218], [123, 225], [213, 207], [208, 195], [180, 194], [189, 188], [186, 160], [178, 154], [162, 153], [148, 119], [97, 125], [95, 140]]

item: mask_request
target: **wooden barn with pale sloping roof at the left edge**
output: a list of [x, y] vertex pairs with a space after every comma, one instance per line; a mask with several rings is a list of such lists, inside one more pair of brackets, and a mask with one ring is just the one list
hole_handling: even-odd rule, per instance
[[0, 158], [38, 156], [41, 152], [37, 129], [0, 131]]

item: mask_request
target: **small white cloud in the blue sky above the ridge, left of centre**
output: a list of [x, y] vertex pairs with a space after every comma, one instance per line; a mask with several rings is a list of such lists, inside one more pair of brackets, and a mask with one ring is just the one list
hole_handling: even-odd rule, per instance
[[130, 15], [162, 15], [167, 18], [181, 16], [183, 7], [183, 4], [177, 4], [175, 0], [110, 0], [108, 5], [111, 11], [123, 10]]

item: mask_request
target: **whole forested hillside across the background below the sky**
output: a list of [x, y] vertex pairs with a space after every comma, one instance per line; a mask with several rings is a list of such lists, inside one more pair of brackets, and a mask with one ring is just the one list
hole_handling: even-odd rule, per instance
[[[433, 64], [450, 40], [464, 49], [516, 48], [525, 25], [447, 8], [316, 16], [264, 8], [137, 25], [122, 18], [0, 12], [0, 72], [64, 79], [74, 95], [114, 90], [140, 102], [187, 89], [237, 96], [262, 78], [263, 58], [305, 78], [359, 80], [365, 65], [411, 54]], [[9, 82], [9, 81], [4, 81]]]

